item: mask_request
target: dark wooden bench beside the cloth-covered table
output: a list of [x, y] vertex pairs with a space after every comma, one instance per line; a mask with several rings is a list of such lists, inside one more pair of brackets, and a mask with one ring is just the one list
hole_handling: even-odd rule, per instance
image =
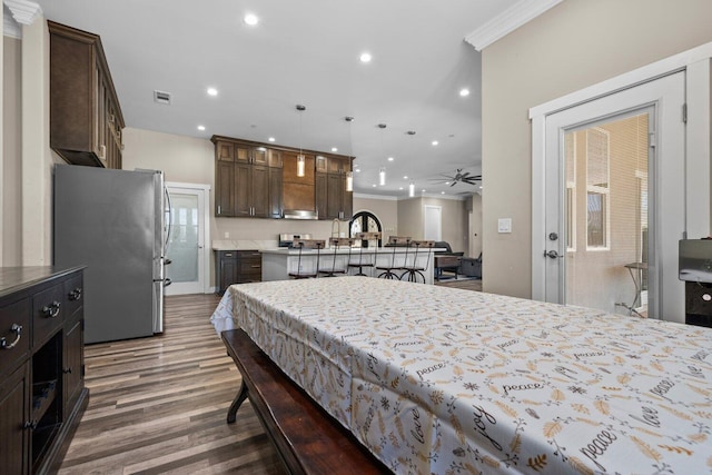
[[249, 398], [265, 432], [293, 474], [390, 473], [338, 422], [304, 393], [241, 330], [221, 333], [228, 355], [243, 375], [228, 424]]

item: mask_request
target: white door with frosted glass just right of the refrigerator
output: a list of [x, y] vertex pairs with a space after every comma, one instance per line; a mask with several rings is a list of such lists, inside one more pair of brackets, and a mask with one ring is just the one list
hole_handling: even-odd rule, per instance
[[170, 197], [170, 234], [166, 257], [166, 277], [170, 285], [166, 295], [208, 293], [207, 263], [209, 226], [207, 197], [209, 187], [189, 184], [166, 184]]

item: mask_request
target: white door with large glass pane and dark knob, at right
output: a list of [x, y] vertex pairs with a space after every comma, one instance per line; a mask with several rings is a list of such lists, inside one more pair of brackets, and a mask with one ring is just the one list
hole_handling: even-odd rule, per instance
[[684, 314], [684, 72], [546, 117], [546, 301]]

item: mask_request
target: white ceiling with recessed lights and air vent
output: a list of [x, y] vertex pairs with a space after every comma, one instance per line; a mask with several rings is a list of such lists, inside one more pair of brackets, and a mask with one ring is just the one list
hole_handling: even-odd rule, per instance
[[[478, 190], [436, 181], [459, 168], [481, 171], [481, 58], [465, 37], [517, 1], [38, 3], [47, 19], [101, 37], [127, 127], [335, 147], [356, 157], [356, 192], [405, 197], [412, 180], [416, 194]], [[248, 12], [257, 26], [243, 21]], [[359, 61], [365, 51], [368, 63]], [[171, 103], [155, 102], [156, 90]]]

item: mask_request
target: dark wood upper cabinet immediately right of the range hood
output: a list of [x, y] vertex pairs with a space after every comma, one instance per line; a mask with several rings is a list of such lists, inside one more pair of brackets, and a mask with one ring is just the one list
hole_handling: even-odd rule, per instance
[[354, 194], [346, 191], [350, 158], [317, 157], [316, 170], [316, 208], [319, 219], [350, 219], [354, 212]]

